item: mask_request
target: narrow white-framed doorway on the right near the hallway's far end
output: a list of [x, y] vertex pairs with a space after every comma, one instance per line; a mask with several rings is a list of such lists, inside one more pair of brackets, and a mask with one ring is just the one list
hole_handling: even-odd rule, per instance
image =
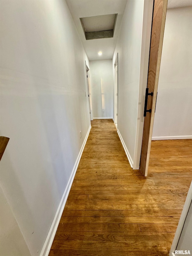
[[118, 53], [114, 63], [114, 123], [118, 126]]

